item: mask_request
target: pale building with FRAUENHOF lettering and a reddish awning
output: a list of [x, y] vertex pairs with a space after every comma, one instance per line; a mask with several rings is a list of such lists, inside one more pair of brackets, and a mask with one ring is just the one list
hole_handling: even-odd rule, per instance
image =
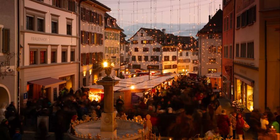
[[77, 2], [21, 2], [21, 103], [26, 97], [54, 102], [65, 86], [78, 89]]

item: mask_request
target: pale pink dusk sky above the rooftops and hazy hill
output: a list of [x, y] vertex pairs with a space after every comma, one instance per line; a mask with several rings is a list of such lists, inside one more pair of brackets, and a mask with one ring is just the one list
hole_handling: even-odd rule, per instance
[[[138, 25], [138, 28], [144, 26], [160, 29], [164, 23], [171, 25], [169, 30], [172, 30], [172, 25], [180, 26], [184, 23], [193, 24], [192, 26], [195, 28], [194, 26], [199, 26], [200, 23], [207, 23], [208, 15], [213, 16], [220, 4], [222, 8], [222, 0], [97, 1], [111, 8], [112, 11], [109, 14], [117, 19], [117, 24], [121, 28]], [[133, 29], [129, 30], [134, 32]], [[166, 30], [168, 31], [168, 29]]]

